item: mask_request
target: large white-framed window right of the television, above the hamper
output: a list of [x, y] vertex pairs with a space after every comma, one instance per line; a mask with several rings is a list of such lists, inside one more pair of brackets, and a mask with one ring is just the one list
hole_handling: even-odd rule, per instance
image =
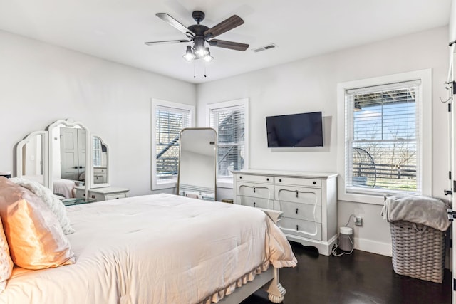
[[339, 85], [345, 122], [344, 194], [382, 199], [390, 192], [430, 194], [430, 182], [423, 182], [431, 162], [423, 157], [428, 153], [425, 145], [430, 145], [423, 136], [423, 122], [430, 120], [430, 110], [423, 110], [430, 105], [424, 76], [407, 73]]

